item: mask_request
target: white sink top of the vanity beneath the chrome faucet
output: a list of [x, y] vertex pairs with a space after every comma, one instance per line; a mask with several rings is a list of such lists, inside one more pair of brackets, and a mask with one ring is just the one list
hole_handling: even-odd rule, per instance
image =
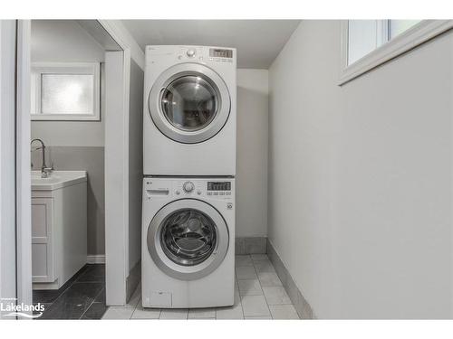
[[53, 171], [47, 178], [41, 177], [41, 171], [32, 171], [32, 191], [53, 191], [86, 181], [86, 171]]

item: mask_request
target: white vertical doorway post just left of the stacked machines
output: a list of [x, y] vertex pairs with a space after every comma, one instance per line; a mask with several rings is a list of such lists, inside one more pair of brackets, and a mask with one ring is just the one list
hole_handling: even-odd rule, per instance
[[[122, 67], [122, 72], [118, 71]], [[130, 51], [105, 53], [105, 265], [106, 303], [126, 304], [129, 274]]]

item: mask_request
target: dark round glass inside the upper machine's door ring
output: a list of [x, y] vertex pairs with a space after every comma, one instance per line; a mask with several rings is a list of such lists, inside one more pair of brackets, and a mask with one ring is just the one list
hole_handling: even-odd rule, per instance
[[162, 112], [169, 123], [184, 131], [207, 127], [217, 114], [217, 91], [203, 75], [188, 75], [162, 91]]

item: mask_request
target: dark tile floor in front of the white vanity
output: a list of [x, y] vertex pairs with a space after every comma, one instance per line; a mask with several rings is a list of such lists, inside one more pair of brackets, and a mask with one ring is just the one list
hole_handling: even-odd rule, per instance
[[44, 304], [37, 319], [101, 319], [105, 313], [105, 265], [85, 265], [58, 290], [34, 290], [34, 304]]

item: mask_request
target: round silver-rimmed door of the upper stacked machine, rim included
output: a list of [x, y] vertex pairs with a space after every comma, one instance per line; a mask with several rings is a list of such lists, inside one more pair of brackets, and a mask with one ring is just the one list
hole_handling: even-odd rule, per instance
[[184, 144], [214, 137], [231, 107], [225, 81], [198, 63], [180, 63], [164, 71], [149, 92], [149, 114], [165, 136]]

